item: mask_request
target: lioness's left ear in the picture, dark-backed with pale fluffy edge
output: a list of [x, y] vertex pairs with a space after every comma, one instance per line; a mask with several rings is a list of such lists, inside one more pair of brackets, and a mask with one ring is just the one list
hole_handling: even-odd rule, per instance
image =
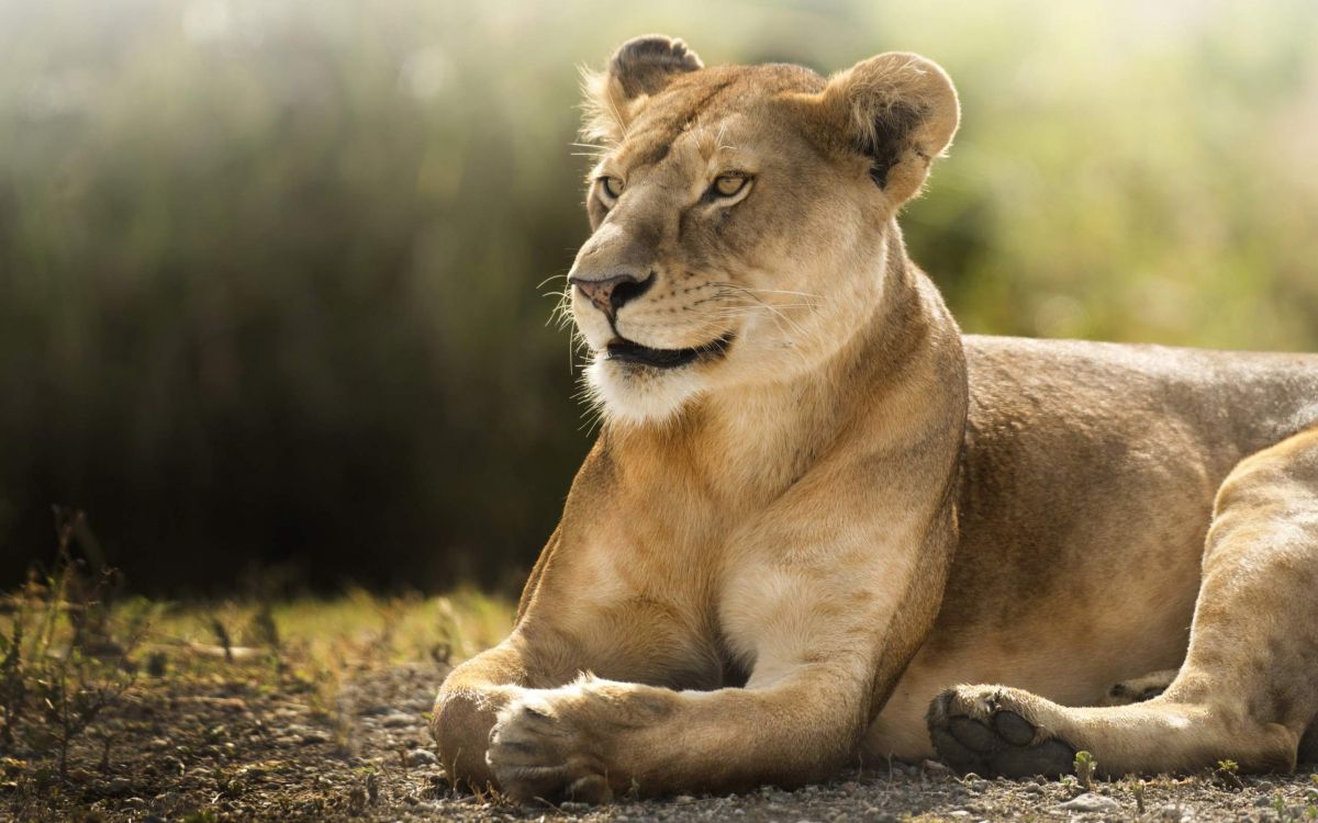
[[622, 43], [600, 72], [583, 72], [585, 122], [589, 140], [618, 141], [635, 120], [645, 100], [673, 76], [704, 68], [687, 43], [663, 34], [646, 34]]

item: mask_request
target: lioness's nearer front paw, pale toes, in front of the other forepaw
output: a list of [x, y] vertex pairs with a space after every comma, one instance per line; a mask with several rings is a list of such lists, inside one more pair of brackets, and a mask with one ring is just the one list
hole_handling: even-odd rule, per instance
[[543, 694], [521, 697], [498, 712], [485, 755], [502, 791], [517, 803], [608, 803], [604, 761], [584, 730]]

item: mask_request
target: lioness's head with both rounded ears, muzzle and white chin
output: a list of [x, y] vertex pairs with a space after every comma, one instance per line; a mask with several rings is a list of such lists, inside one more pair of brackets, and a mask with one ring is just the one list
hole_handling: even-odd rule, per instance
[[957, 129], [946, 74], [882, 54], [829, 79], [625, 43], [587, 78], [593, 234], [569, 274], [612, 419], [816, 369], [874, 313], [888, 225]]

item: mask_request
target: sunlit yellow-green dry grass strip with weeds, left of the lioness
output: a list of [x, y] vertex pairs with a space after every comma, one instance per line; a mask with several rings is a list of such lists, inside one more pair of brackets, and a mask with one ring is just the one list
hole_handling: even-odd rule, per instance
[[233, 679], [297, 695], [347, 752], [341, 693], [352, 677], [422, 662], [445, 669], [498, 643], [513, 615], [510, 602], [474, 590], [161, 603], [115, 600], [112, 581], [70, 561], [66, 540], [55, 571], [0, 595], [0, 756], [49, 760], [66, 781], [79, 739], [111, 748], [99, 720], [120, 701]]

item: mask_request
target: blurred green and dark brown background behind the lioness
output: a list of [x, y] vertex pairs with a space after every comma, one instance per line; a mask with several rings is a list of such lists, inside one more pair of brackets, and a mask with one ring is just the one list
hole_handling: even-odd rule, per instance
[[0, 585], [67, 506], [148, 594], [515, 589], [590, 442], [577, 66], [647, 32], [942, 63], [967, 331], [1318, 349], [1313, 0], [647, 5], [0, 0]]

